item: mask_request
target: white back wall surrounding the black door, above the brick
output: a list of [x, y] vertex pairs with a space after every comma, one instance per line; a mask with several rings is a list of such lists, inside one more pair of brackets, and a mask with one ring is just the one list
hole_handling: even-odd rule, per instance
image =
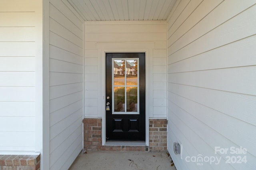
[[146, 52], [146, 114], [166, 118], [166, 22], [85, 22], [85, 117], [105, 113], [104, 52]]

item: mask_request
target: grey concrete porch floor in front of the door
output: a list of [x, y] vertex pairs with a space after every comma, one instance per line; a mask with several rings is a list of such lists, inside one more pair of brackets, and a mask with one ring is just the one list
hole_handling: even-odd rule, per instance
[[176, 170], [166, 152], [87, 151], [69, 170]]

